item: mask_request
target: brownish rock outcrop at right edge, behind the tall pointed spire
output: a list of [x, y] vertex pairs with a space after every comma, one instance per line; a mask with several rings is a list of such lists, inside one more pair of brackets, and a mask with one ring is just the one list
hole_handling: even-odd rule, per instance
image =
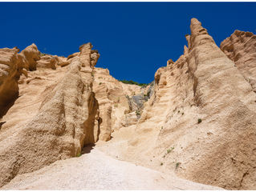
[[256, 92], [256, 35], [235, 30], [230, 38], [221, 42], [221, 50], [234, 61], [238, 70]]

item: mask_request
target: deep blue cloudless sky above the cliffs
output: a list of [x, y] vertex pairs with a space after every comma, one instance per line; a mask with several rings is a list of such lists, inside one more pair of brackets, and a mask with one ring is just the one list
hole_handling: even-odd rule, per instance
[[0, 47], [35, 42], [43, 53], [67, 57], [91, 42], [100, 51], [96, 66], [148, 83], [183, 53], [191, 18], [217, 46], [236, 29], [256, 34], [255, 2], [0, 2]]

